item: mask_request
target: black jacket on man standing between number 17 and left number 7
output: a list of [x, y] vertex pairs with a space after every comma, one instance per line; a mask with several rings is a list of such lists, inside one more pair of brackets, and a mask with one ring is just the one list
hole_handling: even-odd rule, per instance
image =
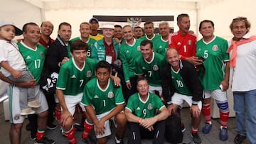
[[60, 35], [57, 36], [56, 40], [50, 45], [46, 55], [46, 67], [50, 72], [60, 71], [60, 62], [64, 57], [68, 57], [68, 48], [61, 40]]

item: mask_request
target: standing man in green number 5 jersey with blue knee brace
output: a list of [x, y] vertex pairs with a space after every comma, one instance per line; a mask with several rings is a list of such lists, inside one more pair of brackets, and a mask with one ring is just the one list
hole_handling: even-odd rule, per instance
[[[203, 38], [196, 43], [196, 56], [204, 57], [204, 70], [200, 74], [203, 84], [204, 101], [203, 115], [206, 118], [206, 125], [203, 133], [207, 134], [212, 128], [210, 119], [210, 97], [215, 99], [220, 109], [220, 140], [228, 140], [228, 99], [227, 92], [229, 81], [229, 55], [227, 40], [215, 36], [213, 21], [204, 20], [199, 25], [199, 31]], [[201, 70], [202, 71], [202, 70]]]

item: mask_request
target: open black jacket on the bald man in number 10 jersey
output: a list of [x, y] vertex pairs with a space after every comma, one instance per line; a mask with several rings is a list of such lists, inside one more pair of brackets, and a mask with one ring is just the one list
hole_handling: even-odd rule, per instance
[[[183, 78], [186, 86], [192, 93], [192, 104], [197, 104], [198, 101], [203, 100], [203, 86], [198, 79], [198, 74], [196, 72], [195, 67], [186, 60], [180, 60], [180, 71], [181, 77]], [[162, 70], [162, 88], [163, 88], [163, 96], [167, 105], [171, 103], [171, 97], [176, 92], [174, 85], [172, 84], [171, 78], [171, 65], [167, 64], [164, 66]]]

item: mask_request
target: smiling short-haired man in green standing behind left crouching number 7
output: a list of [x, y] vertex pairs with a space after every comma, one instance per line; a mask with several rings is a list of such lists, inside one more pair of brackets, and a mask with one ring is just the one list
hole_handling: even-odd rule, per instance
[[80, 24], [79, 31], [80, 31], [80, 36], [73, 38], [72, 40], [70, 40], [70, 42], [73, 43], [75, 40], [82, 40], [83, 42], [87, 43], [88, 45], [87, 57], [91, 57], [92, 45], [94, 45], [96, 40], [93, 38], [90, 38], [90, 32], [91, 32], [90, 23], [82, 22]]

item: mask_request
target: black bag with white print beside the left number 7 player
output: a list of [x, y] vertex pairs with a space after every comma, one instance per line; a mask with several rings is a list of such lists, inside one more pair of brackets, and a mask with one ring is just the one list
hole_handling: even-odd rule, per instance
[[43, 68], [43, 72], [39, 80], [40, 88], [43, 91], [43, 94], [55, 94], [57, 79], [58, 73], [50, 72], [46, 67]]

